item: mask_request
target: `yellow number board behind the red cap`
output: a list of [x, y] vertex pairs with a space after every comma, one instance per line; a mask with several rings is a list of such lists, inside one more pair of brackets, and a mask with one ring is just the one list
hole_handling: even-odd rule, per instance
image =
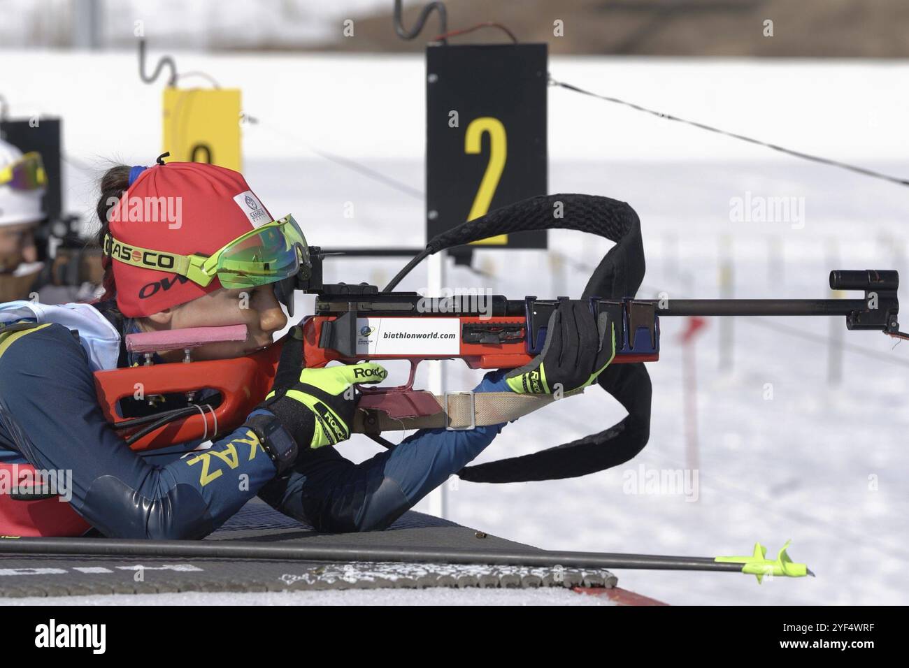
[[242, 171], [239, 88], [165, 88], [163, 120], [168, 160]]

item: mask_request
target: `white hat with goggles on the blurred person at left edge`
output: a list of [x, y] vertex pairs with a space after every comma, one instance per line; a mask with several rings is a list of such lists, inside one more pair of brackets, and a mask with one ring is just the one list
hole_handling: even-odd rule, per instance
[[14, 145], [0, 139], [0, 227], [43, 220], [41, 198], [45, 183], [40, 155], [23, 155]]

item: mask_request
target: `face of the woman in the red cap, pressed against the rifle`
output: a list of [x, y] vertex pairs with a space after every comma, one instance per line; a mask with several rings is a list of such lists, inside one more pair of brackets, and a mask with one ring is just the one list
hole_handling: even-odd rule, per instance
[[[219, 288], [192, 302], [143, 318], [139, 324], [146, 331], [245, 324], [245, 341], [205, 344], [192, 351], [194, 360], [221, 360], [240, 357], [271, 344], [272, 335], [287, 324], [287, 316], [275, 298], [275, 286], [269, 284], [239, 290]], [[169, 351], [161, 356], [167, 361], [177, 361], [183, 358], [183, 351]]]

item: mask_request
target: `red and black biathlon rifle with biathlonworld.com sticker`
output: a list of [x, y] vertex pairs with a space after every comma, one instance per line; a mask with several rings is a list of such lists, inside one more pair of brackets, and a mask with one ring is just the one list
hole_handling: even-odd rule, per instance
[[[555, 204], [564, 216], [554, 217]], [[367, 360], [407, 360], [406, 384], [361, 388], [355, 432], [377, 437], [387, 429], [445, 426], [471, 428], [481, 394], [446, 393], [436, 397], [415, 390], [417, 364], [425, 360], [463, 359], [473, 369], [514, 369], [529, 363], [544, 345], [549, 316], [567, 297], [454, 295], [431, 299], [395, 286], [427, 255], [493, 234], [561, 227], [599, 234], [616, 244], [604, 256], [581, 300], [594, 315], [606, 314], [615, 324], [613, 363], [597, 383], [628, 411], [619, 424], [569, 444], [534, 454], [465, 468], [461, 477], [477, 482], [517, 482], [574, 477], [627, 461], [649, 436], [651, 384], [644, 365], [660, 354], [660, 318], [700, 316], [839, 315], [850, 330], [899, 332], [895, 271], [833, 271], [834, 290], [864, 292], [857, 299], [639, 299], [634, 296], [644, 276], [640, 223], [628, 205], [607, 197], [556, 194], [535, 197], [496, 209], [454, 230], [436, 236], [384, 290], [371, 284], [325, 284], [321, 248], [311, 246], [310, 266], [298, 276], [295, 289], [315, 294], [315, 313], [302, 321], [302, 340], [285, 336], [265, 350], [245, 357], [174, 364], [152, 364], [95, 374], [99, 399], [108, 420], [122, 430], [135, 450], [165, 447], [225, 434], [243, 424], [246, 415], [271, 388], [283, 345], [303, 345], [307, 367], [329, 362], [353, 364]], [[191, 348], [208, 341], [245, 339], [237, 328], [203, 328], [127, 337], [132, 349], [149, 352]], [[242, 327], [240, 329], [243, 329]], [[220, 330], [219, 333], [216, 330]], [[166, 340], [162, 340], [162, 335]], [[133, 338], [133, 341], [130, 341]], [[155, 338], [155, 341], [145, 339]], [[223, 338], [221, 340], [224, 340]], [[150, 355], [149, 355], [150, 357]], [[187, 350], [186, 359], [190, 359]], [[141, 387], [149, 395], [185, 393], [191, 399], [201, 388], [214, 390], [188, 408], [140, 418], [121, 417], [116, 406]], [[552, 397], [514, 394], [527, 403], [527, 413]], [[487, 407], [489, 404], [486, 404]], [[504, 420], [499, 419], [498, 422]], [[497, 424], [494, 421], [487, 424]], [[382, 439], [377, 439], [382, 441]], [[385, 444], [387, 444], [385, 442]]]

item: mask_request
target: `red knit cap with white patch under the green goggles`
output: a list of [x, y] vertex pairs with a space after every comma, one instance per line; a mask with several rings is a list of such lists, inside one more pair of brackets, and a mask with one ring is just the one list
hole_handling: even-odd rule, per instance
[[[205, 163], [168, 163], [138, 175], [110, 213], [110, 232], [126, 246], [210, 255], [272, 220], [243, 174]], [[128, 317], [155, 314], [221, 287], [217, 278], [202, 287], [179, 274], [113, 262], [117, 305]]]

